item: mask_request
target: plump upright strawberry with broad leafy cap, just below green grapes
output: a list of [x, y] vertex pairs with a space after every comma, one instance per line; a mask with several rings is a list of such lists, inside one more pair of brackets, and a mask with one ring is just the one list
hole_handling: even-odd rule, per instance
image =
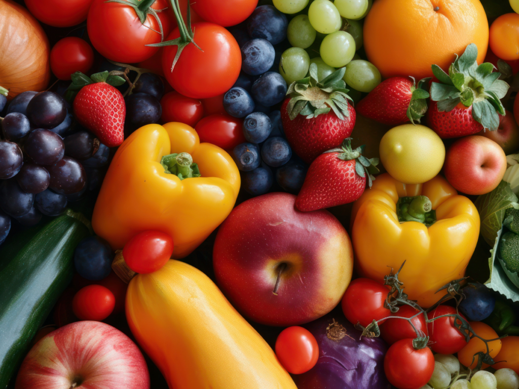
[[311, 163], [318, 155], [350, 136], [355, 126], [355, 109], [348, 102], [345, 68], [317, 81], [317, 65], [310, 76], [290, 85], [290, 98], [283, 102], [281, 120], [286, 140], [295, 153]]

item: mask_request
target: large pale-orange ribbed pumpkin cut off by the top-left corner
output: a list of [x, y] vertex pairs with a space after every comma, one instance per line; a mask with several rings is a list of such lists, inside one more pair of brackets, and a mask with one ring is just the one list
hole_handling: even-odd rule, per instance
[[50, 80], [49, 40], [30, 12], [0, 0], [0, 86], [17, 94], [45, 90]]

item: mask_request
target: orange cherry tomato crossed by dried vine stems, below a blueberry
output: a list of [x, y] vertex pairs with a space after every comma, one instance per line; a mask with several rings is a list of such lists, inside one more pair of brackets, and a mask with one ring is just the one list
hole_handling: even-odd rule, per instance
[[[469, 324], [474, 330], [475, 334], [481, 336], [483, 339], [490, 340], [499, 338], [499, 335], [496, 334], [496, 331], [494, 331], [494, 329], [488, 324], [482, 322], [469, 322]], [[501, 339], [489, 342], [488, 347], [490, 349], [490, 356], [495, 358], [501, 351]], [[472, 338], [464, 348], [458, 351], [459, 363], [468, 367], [469, 369], [474, 369], [477, 365], [477, 361], [479, 360], [479, 356], [475, 354], [479, 353], [480, 351], [486, 353], [487, 349], [485, 342], [479, 338]], [[517, 352], [517, 350], [515, 350], [515, 352]], [[497, 362], [499, 359], [494, 360]], [[486, 369], [488, 366], [489, 365], [487, 364], [483, 364], [482, 368]]]

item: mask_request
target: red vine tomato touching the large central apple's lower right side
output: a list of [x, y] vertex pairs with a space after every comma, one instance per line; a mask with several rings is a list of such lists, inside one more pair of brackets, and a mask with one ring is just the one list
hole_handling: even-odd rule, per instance
[[[343, 297], [344, 315], [351, 324], [360, 323], [363, 327], [391, 316], [391, 311], [384, 307], [388, 293], [389, 289], [376, 281], [367, 278], [353, 280]], [[381, 323], [384, 322], [378, 324]]]

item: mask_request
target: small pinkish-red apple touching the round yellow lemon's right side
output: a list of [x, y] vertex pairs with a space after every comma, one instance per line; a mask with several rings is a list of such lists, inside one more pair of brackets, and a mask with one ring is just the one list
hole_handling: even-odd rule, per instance
[[467, 195], [483, 195], [495, 189], [507, 170], [503, 149], [487, 137], [472, 135], [450, 146], [443, 171], [450, 185]]

